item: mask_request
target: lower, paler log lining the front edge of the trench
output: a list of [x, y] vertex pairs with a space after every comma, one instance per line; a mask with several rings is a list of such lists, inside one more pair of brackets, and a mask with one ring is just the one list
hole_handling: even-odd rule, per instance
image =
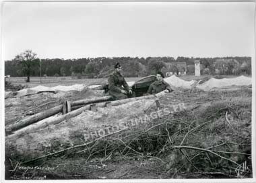
[[[96, 104], [97, 108], [104, 108], [106, 107], [107, 104], [109, 104], [110, 106], [119, 106], [121, 104], [126, 104], [128, 102], [133, 102], [136, 100], [141, 100], [141, 99], [150, 99], [150, 98], [156, 98], [156, 96], [150, 95], [150, 96], [142, 96], [142, 97], [138, 97], [138, 98], [127, 98], [127, 99], [123, 99], [123, 100], [116, 100], [113, 102], [101, 102]], [[63, 120], [67, 120], [69, 118], [73, 118], [75, 116], [78, 116], [79, 114], [81, 114], [82, 112], [84, 112], [85, 110], [90, 110], [90, 105], [86, 105], [82, 108], [79, 108], [77, 110], [73, 110], [67, 114], [61, 115], [61, 116], [57, 116], [57, 118], [53, 118], [53, 119], [44, 119], [41, 120], [39, 122], [36, 122], [36, 124], [31, 124], [30, 126], [26, 126], [23, 129], [20, 129], [18, 131], [15, 131], [13, 134], [7, 136], [7, 139], [9, 138], [13, 138], [13, 137], [17, 137], [23, 134], [28, 134], [31, 133], [33, 131], [36, 131], [37, 129], [41, 129], [45, 126], [48, 126], [50, 124], [58, 124], [59, 122], [62, 122]]]

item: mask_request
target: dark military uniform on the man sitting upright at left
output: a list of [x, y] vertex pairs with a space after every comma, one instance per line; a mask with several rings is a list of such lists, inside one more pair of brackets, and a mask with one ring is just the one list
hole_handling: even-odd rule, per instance
[[113, 96], [114, 100], [128, 98], [128, 95], [122, 94], [121, 90], [127, 91], [127, 94], [129, 94], [130, 90], [129, 85], [125, 81], [123, 75], [117, 73], [117, 71], [114, 71], [108, 77], [108, 89], [110, 96]]

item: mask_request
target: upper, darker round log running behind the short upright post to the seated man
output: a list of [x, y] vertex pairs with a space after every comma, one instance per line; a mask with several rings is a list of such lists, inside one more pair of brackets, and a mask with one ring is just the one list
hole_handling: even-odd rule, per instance
[[[111, 96], [105, 96], [105, 97], [100, 97], [100, 98], [91, 98], [91, 99], [86, 99], [86, 100], [78, 100], [78, 101], [73, 101], [71, 102], [71, 106], [78, 106], [82, 104], [93, 104], [96, 102], [104, 102], [111, 100]], [[44, 110], [42, 112], [39, 112], [38, 114], [34, 114], [32, 116], [29, 116], [27, 118], [24, 118], [20, 120], [19, 122], [15, 124], [11, 124], [9, 126], [5, 127], [5, 131], [7, 133], [11, 133], [13, 131], [17, 131], [18, 129], [22, 129], [25, 126], [28, 126], [30, 124], [33, 124], [34, 122], [38, 122], [39, 120], [42, 120], [44, 118], [48, 118], [50, 116], [53, 116], [55, 114], [58, 114], [63, 110], [63, 105], [55, 106], [53, 108], [50, 108], [49, 110]]]

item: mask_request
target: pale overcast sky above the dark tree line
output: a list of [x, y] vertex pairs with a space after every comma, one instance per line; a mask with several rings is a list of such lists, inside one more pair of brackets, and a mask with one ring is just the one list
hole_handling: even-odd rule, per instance
[[5, 2], [2, 59], [252, 57], [255, 3]]

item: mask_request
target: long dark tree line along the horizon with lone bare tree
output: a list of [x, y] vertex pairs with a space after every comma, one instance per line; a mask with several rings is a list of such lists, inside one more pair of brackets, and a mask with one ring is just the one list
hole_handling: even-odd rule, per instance
[[[189, 58], [189, 57], [96, 57], [82, 59], [39, 59], [32, 50], [26, 50], [17, 55], [11, 61], [5, 61], [5, 75], [11, 77], [38, 77], [42, 76], [75, 76], [77, 78], [87, 77], [107, 77], [113, 70], [115, 63], [119, 62], [123, 66], [123, 73], [126, 77], [138, 77], [155, 74], [166, 63], [185, 62], [187, 73], [193, 74], [194, 61], [200, 60], [202, 71], [206, 74], [216, 72], [216, 60], [218, 59], [235, 59], [241, 65], [245, 66], [245, 73], [251, 74], [251, 57], [215, 57], [215, 58]], [[227, 69], [221, 69], [218, 74], [234, 74], [235, 64], [228, 63]], [[237, 65], [237, 64], [236, 64]], [[220, 67], [222, 65], [220, 64]], [[242, 69], [243, 70], [243, 69]], [[241, 70], [241, 72], [242, 72]], [[241, 72], [237, 72], [238, 74]], [[236, 73], [236, 74], [237, 74]]]

